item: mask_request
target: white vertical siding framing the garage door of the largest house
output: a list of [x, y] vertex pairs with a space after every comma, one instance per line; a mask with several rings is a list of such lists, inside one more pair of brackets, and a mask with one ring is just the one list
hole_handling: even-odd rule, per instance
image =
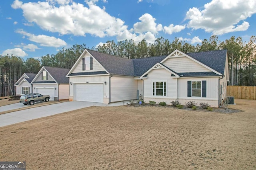
[[69, 86], [69, 96], [70, 99], [73, 100], [74, 96], [74, 84], [77, 83], [104, 83], [104, 98], [109, 98], [109, 75], [107, 76], [77, 76], [77, 77], [70, 77], [69, 82], [72, 82], [72, 85]]

